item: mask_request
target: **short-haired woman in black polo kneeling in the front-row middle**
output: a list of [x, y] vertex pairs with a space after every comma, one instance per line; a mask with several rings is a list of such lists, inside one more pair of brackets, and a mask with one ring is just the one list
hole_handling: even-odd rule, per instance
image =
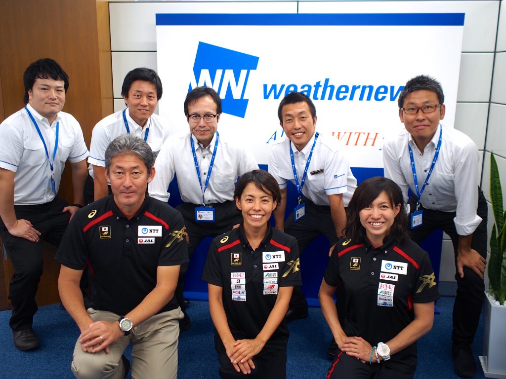
[[269, 225], [281, 193], [268, 172], [243, 174], [234, 198], [243, 222], [213, 241], [202, 273], [209, 283], [220, 375], [284, 379], [284, 316], [293, 286], [301, 284], [297, 241]]

